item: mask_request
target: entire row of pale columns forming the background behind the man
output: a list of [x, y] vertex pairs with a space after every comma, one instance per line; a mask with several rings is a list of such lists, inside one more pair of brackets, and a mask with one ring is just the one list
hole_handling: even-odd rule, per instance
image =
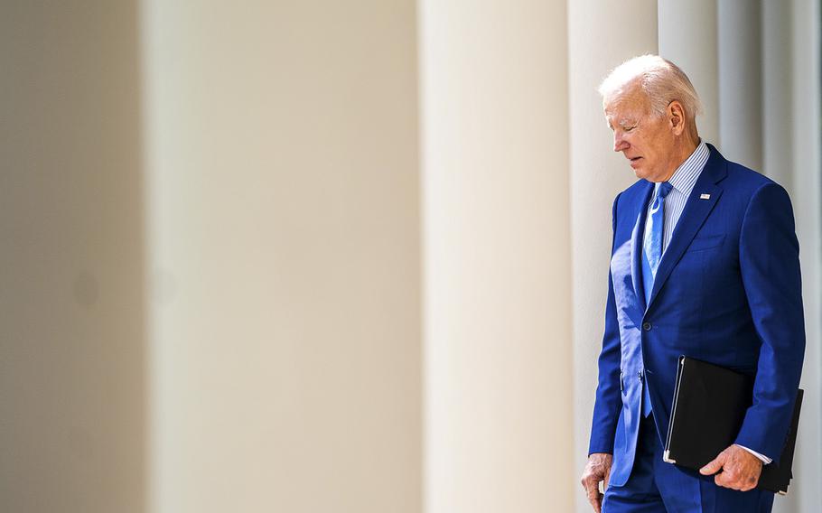
[[[791, 192], [822, 389], [818, 18], [20, 3], [0, 21], [0, 508], [588, 511], [611, 205], [634, 181], [596, 86], [640, 53], [687, 71], [706, 140]], [[819, 508], [806, 397], [783, 513]]]

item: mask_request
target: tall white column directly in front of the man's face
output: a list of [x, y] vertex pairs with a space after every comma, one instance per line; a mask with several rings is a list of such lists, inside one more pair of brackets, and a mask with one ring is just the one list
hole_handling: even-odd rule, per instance
[[[596, 89], [612, 68], [636, 55], [657, 52], [654, 0], [568, 3], [571, 117], [571, 227], [574, 270], [574, 476], [582, 473], [591, 433], [596, 359], [602, 348], [611, 206], [636, 181], [611, 132]], [[605, 37], [618, 33], [619, 37]], [[602, 34], [602, 37], [592, 37]], [[607, 41], [606, 41], [607, 40]], [[590, 506], [577, 482], [576, 511]]]

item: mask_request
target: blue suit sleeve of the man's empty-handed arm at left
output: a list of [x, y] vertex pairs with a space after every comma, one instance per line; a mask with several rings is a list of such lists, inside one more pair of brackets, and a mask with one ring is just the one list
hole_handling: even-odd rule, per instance
[[[612, 231], [616, 233], [617, 195], [612, 208]], [[613, 253], [613, 239], [611, 243]], [[608, 272], [608, 299], [605, 304], [605, 332], [599, 357], [599, 381], [593, 404], [593, 423], [588, 455], [593, 452], [613, 453], [613, 436], [620, 416], [622, 396], [620, 387], [620, 329], [617, 322], [616, 302], [613, 297], [613, 279]]]

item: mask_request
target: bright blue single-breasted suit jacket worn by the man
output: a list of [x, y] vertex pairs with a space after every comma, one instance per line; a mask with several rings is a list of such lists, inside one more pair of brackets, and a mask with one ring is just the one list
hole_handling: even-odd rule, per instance
[[805, 352], [799, 243], [788, 193], [708, 145], [705, 164], [645, 304], [640, 254], [652, 182], [613, 202], [613, 242], [589, 453], [631, 473], [643, 384], [660, 441], [679, 355], [755, 374], [736, 443], [779, 462]]

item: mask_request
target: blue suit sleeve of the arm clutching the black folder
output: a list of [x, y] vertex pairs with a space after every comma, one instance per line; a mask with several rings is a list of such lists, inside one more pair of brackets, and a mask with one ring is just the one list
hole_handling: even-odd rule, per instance
[[743, 219], [739, 265], [759, 361], [735, 443], [779, 462], [805, 356], [799, 242], [788, 192], [768, 182], [754, 192]]

